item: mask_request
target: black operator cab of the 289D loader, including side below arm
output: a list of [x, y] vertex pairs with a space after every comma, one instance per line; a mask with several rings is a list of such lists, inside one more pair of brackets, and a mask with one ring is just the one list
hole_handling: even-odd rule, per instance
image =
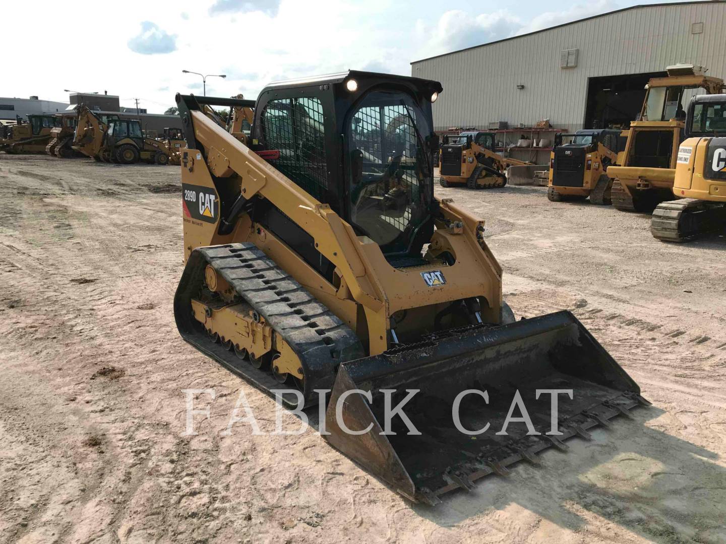
[[[256, 102], [251, 147], [279, 152], [270, 164], [392, 265], [417, 262], [436, 213], [431, 103], [441, 90], [436, 81], [359, 71], [271, 83]], [[309, 234], [264, 199], [254, 206], [256, 221], [332, 275]]]

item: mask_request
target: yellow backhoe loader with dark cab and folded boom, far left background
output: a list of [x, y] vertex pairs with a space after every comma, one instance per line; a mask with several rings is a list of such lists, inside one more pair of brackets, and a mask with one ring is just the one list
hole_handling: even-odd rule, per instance
[[168, 165], [171, 155], [165, 143], [144, 137], [139, 120], [118, 117], [103, 120], [87, 107], [78, 110], [73, 149], [98, 161], [124, 165], [139, 161]]

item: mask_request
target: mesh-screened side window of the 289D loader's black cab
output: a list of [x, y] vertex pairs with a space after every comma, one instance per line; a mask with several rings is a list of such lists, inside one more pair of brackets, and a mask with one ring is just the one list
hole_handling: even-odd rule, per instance
[[325, 202], [328, 189], [325, 116], [317, 98], [271, 100], [262, 112], [267, 149], [280, 151], [274, 166], [312, 197]]

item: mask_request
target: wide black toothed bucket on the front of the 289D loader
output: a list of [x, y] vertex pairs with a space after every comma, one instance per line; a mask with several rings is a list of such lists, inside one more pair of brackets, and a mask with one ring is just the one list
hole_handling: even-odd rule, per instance
[[[368, 402], [361, 392], [370, 393]], [[382, 390], [395, 390], [384, 394]], [[403, 419], [391, 419], [385, 428], [385, 398], [395, 408], [418, 390], [403, 411], [420, 434], [409, 434]], [[460, 426], [452, 407], [460, 402]], [[550, 393], [537, 390], [572, 390], [558, 397], [558, 418], [552, 431]], [[510, 421], [507, 434], [497, 434], [510, 412], [516, 392], [531, 419]], [[589, 439], [587, 429], [610, 425], [613, 416], [629, 416], [630, 408], [648, 405], [640, 387], [570, 312], [518, 321], [505, 326], [457, 331], [409, 347], [340, 365], [328, 404], [325, 438], [343, 454], [382, 479], [405, 497], [436, 504], [439, 495], [464, 488], [487, 474], [506, 475], [517, 461], [539, 463], [537, 453], [550, 446], [560, 450], [570, 437]], [[340, 413], [340, 422], [336, 418]], [[513, 418], [522, 417], [518, 408]], [[342, 426], [364, 434], [349, 434]], [[529, 434], [528, 434], [529, 432]]]

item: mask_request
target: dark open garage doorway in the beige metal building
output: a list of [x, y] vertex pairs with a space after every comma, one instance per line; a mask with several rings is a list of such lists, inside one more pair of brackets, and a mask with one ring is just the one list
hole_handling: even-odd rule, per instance
[[645, 84], [650, 78], [666, 75], [649, 72], [589, 78], [584, 128], [628, 128], [643, 106]]

